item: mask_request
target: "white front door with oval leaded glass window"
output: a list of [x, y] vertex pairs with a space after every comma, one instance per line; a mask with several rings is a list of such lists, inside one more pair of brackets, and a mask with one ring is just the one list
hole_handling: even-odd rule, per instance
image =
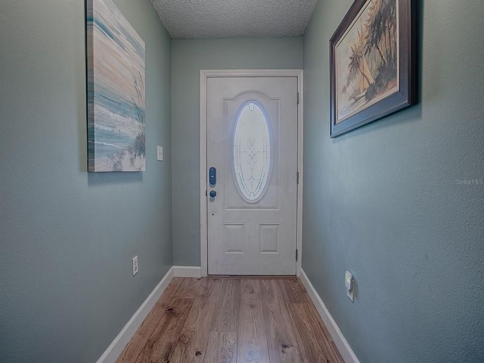
[[295, 275], [296, 95], [296, 77], [207, 79], [211, 275]]

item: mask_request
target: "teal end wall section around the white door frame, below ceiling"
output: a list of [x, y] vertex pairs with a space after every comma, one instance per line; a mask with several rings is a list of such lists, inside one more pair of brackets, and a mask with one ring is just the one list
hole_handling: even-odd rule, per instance
[[173, 40], [174, 265], [200, 266], [200, 70], [301, 67], [301, 38]]

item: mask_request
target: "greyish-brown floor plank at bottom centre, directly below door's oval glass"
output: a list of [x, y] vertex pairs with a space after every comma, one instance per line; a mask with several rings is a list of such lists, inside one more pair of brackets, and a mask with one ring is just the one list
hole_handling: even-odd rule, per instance
[[240, 300], [237, 363], [269, 363], [262, 297], [244, 293]]

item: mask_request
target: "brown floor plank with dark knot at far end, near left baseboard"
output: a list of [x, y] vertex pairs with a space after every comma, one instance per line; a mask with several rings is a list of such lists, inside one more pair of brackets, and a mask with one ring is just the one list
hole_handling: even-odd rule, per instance
[[130, 363], [167, 363], [193, 302], [193, 299], [174, 298], [141, 349], [138, 359]]

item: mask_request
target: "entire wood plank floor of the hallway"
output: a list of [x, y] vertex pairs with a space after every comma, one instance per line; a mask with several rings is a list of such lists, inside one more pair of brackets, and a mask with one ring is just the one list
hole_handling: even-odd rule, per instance
[[344, 363], [301, 282], [174, 278], [116, 363]]

